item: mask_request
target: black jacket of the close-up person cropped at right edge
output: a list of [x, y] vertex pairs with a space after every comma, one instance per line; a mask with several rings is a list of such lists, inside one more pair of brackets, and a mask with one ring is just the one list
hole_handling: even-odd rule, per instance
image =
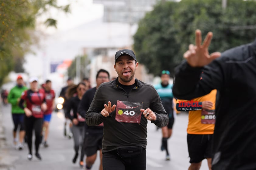
[[213, 170], [256, 169], [256, 41], [227, 50], [204, 68], [183, 62], [173, 94], [190, 100], [220, 92], [213, 135]]

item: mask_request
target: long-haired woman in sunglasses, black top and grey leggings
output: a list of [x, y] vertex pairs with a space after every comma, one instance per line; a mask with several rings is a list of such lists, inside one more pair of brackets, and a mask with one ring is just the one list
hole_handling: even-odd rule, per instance
[[[74, 150], [75, 155], [72, 159], [72, 162], [75, 163], [78, 157], [79, 148], [81, 146], [81, 155], [80, 155], [80, 167], [84, 166], [84, 149], [82, 148], [82, 141], [85, 134], [85, 119], [81, 117], [77, 113], [78, 104], [82, 99], [82, 96], [84, 95], [86, 91], [86, 85], [84, 82], [80, 82], [78, 85], [71, 85], [67, 89], [67, 98], [70, 98], [68, 104], [67, 104], [67, 116], [70, 118], [70, 120], [73, 123], [73, 138], [74, 138]], [[75, 95], [76, 94], [76, 95]], [[73, 111], [73, 114], [71, 114], [71, 110]]]

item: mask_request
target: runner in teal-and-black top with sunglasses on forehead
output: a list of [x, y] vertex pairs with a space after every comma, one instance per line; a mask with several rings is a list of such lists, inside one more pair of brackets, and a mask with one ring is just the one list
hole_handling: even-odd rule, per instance
[[162, 127], [162, 144], [161, 144], [161, 151], [164, 151], [164, 150], [166, 151], [165, 160], [167, 161], [170, 160], [167, 140], [168, 138], [171, 137], [172, 126], [174, 123], [172, 84], [169, 84], [169, 80], [170, 80], [170, 72], [168, 70], [163, 70], [161, 72], [161, 83], [155, 85], [157, 93], [160, 96], [164, 109], [167, 112], [169, 117], [168, 125]]

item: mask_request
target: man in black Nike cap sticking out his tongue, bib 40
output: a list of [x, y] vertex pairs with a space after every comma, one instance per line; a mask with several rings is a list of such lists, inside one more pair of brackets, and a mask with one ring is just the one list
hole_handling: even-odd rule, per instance
[[134, 77], [132, 50], [116, 52], [114, 68], [118, 78], [99, 86], [85, 120], [89, 126], [104, 123], [103, 170], [145, 170], [147, 120], [161, 127], [169, 118], [155, 88]]

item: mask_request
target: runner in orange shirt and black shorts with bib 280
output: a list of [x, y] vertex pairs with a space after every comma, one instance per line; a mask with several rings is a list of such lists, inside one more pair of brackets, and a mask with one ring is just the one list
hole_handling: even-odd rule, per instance
[[177, 110], [189, 110], [187, 128], [189, 162], [191, 163], [189, 170], [199, 170], [205, 158], [211, 170], [216, 92], [216, 89], [212, 90], [209, 94], [194, 98], [192, 101], [177, 100]]

